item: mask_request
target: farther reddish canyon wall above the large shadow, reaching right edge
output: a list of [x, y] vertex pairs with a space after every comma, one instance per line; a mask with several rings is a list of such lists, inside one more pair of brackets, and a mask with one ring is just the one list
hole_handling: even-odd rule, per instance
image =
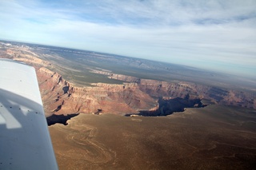
[[234, 89], [221, 89], [209, 85], [199, 85], [192, 82], [166, 82], [149, 79], [139, 79], [115, 73], [98, 72], [109, 75], [109, 78], [120, 81], [134, 82], [139, 86], [142, 92], [149, 94], [151, 97], [186, 97], [205, 98], [221, 105], [239, 105], [246, 108], [256, 109], [255, 93], [244, 92]]

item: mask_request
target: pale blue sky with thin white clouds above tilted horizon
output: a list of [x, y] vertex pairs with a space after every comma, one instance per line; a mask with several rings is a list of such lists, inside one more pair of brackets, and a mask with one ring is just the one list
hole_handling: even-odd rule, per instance
[[0, 39], [256, 76], [255, 0], [2, 0]]

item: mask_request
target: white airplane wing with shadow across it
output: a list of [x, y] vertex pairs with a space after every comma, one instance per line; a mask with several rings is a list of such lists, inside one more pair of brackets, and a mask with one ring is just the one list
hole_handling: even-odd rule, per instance
[[0, 59], [0, 169], [58, 169], [33, 67]]

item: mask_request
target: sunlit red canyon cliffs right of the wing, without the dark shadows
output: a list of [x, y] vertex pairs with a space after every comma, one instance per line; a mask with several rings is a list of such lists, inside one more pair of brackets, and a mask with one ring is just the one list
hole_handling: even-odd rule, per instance
[[[158, 109], [159, 97], [166, 99], [179, 97], [180, 99], [174, 103], [180, 105], [181, 109], [186, 107], [186, 102], [189, 102], [184, 103], [182, 100], [186, 97], [190, 98], [190, 102], [206, 98], [217, 104], [256, 108], [255, 102], [249, 102], [247, 99], [250, 98], [249, 93], [238, 93], [234, 90], [212, 88], [188, 82], [169, 83], [114, 75], [112, 78], [128, 82], [123, 85], [95, 83], [91, 87], [76, 87], [64, 80], [58, 73], [44, 67], [38, 69], [37, 73], [42, 100], [46, 106], [46, 115], [53, 113], [118, 113], [123, 115], [142, 113], [140, 112], [142, 110]], [[172, 101], [167, 101], [170, 108]], [[189, 106], [192, 107], [195, 104], [199, 105], [199, 103], [193, 103]], [[172, 107], [174, 108], [174, 106]], [[170, 113], [172, 109], [168, 110]]]

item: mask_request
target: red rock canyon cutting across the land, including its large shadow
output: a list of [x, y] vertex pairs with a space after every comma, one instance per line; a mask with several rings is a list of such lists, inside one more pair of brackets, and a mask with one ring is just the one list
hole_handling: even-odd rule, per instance
[[[2, 57], [33, 65], [38, 75], [46, 117], [76, 113], [113, 113], [121, 115], [166, 116], [187, 107], [202, 107], [202, 100], [215, 105], [234, 105], [256, 109], [254, 92], [226, 89], [188, 81], [158, 81], [94, 68], [90, 73], [118, 80], [79, 86], [54, 72], [57, 67], [29, 48], [1, 51]], [[51, 69], [51, 70], [50, 70]], [[69, 68], [66, 68], [69, 69]]]

